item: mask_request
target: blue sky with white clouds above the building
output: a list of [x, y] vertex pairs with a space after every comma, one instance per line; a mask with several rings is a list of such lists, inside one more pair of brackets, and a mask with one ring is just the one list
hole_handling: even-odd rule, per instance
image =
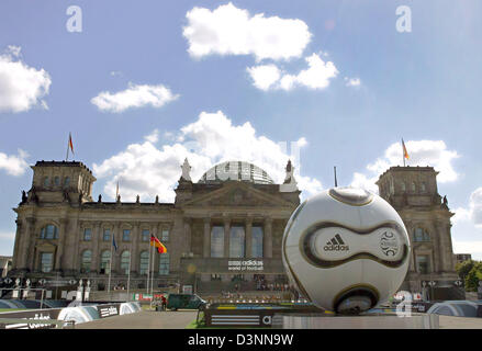
[[[70, 5], [81, 9], [81, 32], [66, 29]], [[411, 9], [411, 32], [396, 30], [400, 5]], [[372, 189], [380, 170], [402, 162], [403, 137], [411, 165], [440, 171], [439, 193], [457, 212], [456, 251], [482, 259], [478, 13], [477, 0], [2, 1], [0, 254], [12, 253], [11, 208], [31, 186], [27, 166], [64, 159], [71, 132], [75, 159], [98, 178], [94, 196], [112, 199], [120, 180], [127, 201], [169, 201], [186, 156], [194, 179], [242, 157], [282, 177], [290, 150], [276, 147], [291, 141], [306, 196], [333, 184], [333, 166], [340, 184]], [[195, 49], [200, 41], [209, 53]], [[22, 72], [43, 92], [12, 91]]]

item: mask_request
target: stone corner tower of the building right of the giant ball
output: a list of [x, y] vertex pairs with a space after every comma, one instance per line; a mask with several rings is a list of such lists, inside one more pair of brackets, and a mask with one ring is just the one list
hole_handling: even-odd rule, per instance
[[[451, 224], [447, 197], [438, 194], [433, 167], [391, 167], [380, 176], [380, 196], [400, 214], [411, 239], [412, 254], [402, 288], [431, 298], [456, 298]], [[435, 287], [428, 282], [435, 281]], [[425, 283], [425, 284], [424, 284]], [[448, 295], [447, 295], [448, 294]]]

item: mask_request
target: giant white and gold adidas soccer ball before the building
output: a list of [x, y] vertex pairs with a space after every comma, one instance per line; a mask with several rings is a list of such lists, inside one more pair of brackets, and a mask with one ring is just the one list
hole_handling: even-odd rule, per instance
[[317, 307], [358, 314], [405, 279], [410, 241], [396, 211], [373, 193], [334, 188], [303, 202], [282, 242], [291, 283]]

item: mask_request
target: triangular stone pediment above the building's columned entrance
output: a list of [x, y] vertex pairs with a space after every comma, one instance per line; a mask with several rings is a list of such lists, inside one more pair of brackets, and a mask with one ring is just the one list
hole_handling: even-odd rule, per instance
[[184, 206], [293, 207], [294, 204], [279, 196], [255, 189], [250, 184], [233, 181], [225, 183], [223, 188], [217, 189], [208, 194], [202, 194], [197, 196], [194, 193], [193, 197], [190, 201], [183, 203], [182, 206], [183, 207]]

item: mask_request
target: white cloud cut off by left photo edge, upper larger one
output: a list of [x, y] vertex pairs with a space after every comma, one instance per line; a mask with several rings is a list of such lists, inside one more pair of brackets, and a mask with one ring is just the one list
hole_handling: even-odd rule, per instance
[[9, 45], [0, 55], [0, 112], [25, 112], [34, 106], [47, 109], [51, 76], [29, 67], [20, 59], [19, 46]]

